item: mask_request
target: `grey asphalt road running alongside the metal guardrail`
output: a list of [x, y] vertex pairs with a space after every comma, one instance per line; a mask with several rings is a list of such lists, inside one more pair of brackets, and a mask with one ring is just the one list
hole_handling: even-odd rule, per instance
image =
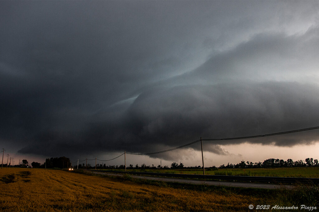
[[[92, 172], [94, 174], [107, 174], [107, 175], [113, 175], [113, 176], [122, 176], [122, 174], [100, 173], [100, 172], [94, 172], [94, 171], [92, 171]], [[294, 186], [290, 186], [290, 185], [276, 185], [276, 184], [264, 184], [264, 183], [187, 180], [187, 179], [138, 176], [138, 175], [130, 175], [130, 176], [132, 178], [139, 178], [139, 179], [146, 179], [146, 180], [157, 180], [157, 181], [163, 181], [163, 182], [180, 182], [180, 183], [212, 185], [212, 186], [228, 186], [228, 187], [242, 187], [242, 188], [267, 188], [267, 189], [278, 189], [278, 188], [292, 189], [292, 188], [294, 188]]]

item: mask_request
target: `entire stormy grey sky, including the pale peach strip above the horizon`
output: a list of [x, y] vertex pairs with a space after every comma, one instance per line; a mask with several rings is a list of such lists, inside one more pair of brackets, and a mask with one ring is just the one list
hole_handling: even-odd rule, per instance
[[[0, 148], [15, 164], [319, 126], [318, 1], [0, 1], [0, 28]], [[204, 165], [318, 147], [319, 130], [204, 141]], [[202, 165], [200, 142], [126, 155]]]

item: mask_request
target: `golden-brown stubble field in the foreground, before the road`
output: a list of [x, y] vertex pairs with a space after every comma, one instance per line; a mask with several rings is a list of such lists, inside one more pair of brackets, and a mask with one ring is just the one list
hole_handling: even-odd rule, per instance
[[319, 208], [318, 187], [226, 188], [23, 168], [1, 169], [0, 180], [1, 211], [256, 211], [257, 205], [294, 205], [299, 207], [296, 211], [301, 205]]

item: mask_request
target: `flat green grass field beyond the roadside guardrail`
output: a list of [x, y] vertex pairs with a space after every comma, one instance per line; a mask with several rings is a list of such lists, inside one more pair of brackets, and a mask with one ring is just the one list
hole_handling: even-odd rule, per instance
[[[124, 171], [124, 169], [105, 169]], [[133, 172], [156, 172], [170, 174], [203, 174], [201, 169], [127, 169]], [[265, 177], [307, 177], [319, 178], [319, 167], [301, 168], [225, 168], [218, 170], [205, 170], [210, 175], [233, 175], [233, 176], [265, 176]]]

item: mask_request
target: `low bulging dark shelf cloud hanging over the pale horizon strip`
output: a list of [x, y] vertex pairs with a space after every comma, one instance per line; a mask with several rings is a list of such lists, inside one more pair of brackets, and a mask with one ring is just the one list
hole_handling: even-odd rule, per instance
[[[156, 89], [141, 94], [117, 122], [106, 120], [96, 123], [77, 137], [74, 147], [82, 151], [125, 150], [148, 153], [179, 146], [203, 138], [227, 138], [262, 133], [274, 133], [317, 126], [319, 98], [313, 93], [318, 87], [299, 83], [269, 82], [246, 85], [193, 85]], [[120, 118], [119, 118], [120, 119]], [[274, 124], [275, 123], [275, 124]], [[215, 141], [211, 144], [239, 142], [275, 143], [292, 146], [317, 139], [317, 131], [293, 135], [267, 137], [258, 140]], [[51, 139], [48, 143], [70, 144], [68, 136]], [[82, 141], [82, 143], [81, 143]], [[39, 144], [35, 145], [38, 146]], [[208, 147], [211, 152], [227, 154], [218, 146]], [[89, 145], [89, 146], [86, 146]], [[200, 149], [200, 146], [192, 146]], [[79, 147], [81, 148], [81, 147]], [[23, 151], [36, 153], [36, 148]], [[52, 151], [54, 148], [51, 148]], [[156, 157], [158, 155], [155, 155]]]

